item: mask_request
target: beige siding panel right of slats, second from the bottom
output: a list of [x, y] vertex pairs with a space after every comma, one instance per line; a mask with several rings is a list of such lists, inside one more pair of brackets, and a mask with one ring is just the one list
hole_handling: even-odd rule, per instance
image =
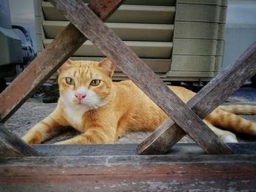
[[217, 40], [214, 39], [173, 39], [175, 55], [216, 55]]

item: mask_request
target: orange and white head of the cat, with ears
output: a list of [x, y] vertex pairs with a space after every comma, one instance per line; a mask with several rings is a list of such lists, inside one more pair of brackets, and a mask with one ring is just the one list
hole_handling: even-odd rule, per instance
[[114, 69], [115, 65], [108, 58], [100, 62], [66, 61], [59, 69], [62, 101], [90, 109], [107, 104]]

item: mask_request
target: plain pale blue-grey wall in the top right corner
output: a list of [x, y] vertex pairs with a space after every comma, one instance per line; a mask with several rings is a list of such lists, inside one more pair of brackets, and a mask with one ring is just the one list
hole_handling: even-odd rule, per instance
[[253, 42], [256, 42], [256, 1], [228, 1], [223, 68], [234, 64]]

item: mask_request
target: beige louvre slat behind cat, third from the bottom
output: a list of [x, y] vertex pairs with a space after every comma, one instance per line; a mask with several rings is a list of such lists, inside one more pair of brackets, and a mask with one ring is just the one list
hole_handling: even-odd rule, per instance
[[[45, 37], [55, 38], [68, 21], [43, 20], [42, 27]], [[167, 24], [138, 24], [138, 23], [106, 23], [122, 40], [170, 42], [173, 36], [173, 25]]]

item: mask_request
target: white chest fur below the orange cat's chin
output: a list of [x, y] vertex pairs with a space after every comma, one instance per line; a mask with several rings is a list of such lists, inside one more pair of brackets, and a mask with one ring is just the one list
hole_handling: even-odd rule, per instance
[[70, 125], [81, 132], [84, 130], [82, 118], [84, 113], [87, 111], [89, 111], [89, 108], [84, 105], [70, 104], [67, 106], [67, 104], [65, 104], [64, 107], [64, 112]]

